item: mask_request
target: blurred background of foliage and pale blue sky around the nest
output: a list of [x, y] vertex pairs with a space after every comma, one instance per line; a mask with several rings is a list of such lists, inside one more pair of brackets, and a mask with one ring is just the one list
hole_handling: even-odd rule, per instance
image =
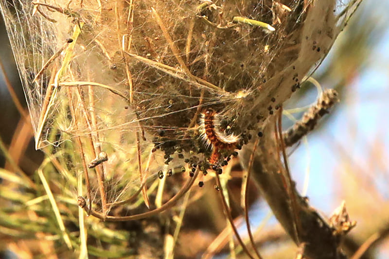
[[[350, 256], [354, 255], [353, 259], [389, 258], [387, 10], [388, 1], [364, 0], [340, 34], [313, 77], [322, 87], [335, 88], [341, 102], [306, 141], [291, 150], [289, 157], [298, 189], [303, 193], [306, 190], [312, 206], [329, 215], [342, 200], [346, 201], [350, 216], [357, 221], [357, 227], [343, 245]], [[8, 80], [21, 102], [23, 113], [28, 113], [2, 23], [0, 37], [0, 60], [5, 72], [5, 75], [0, 73], [0, 258], [81, 257], [82, 245], [75, 242], [79, 235], [78, 219], [74, 217], [78, 210], [76, 201], [69, 200], [58, 190], [56, 181], [61, 178], [48, 174], [55, 169], [44, 168], [65, 222], [65, 231], [61, 231], [58, 217], [53, 213], [36, 173], [42, 162], [47, 164], [48, 161], [44, 161], [41, 151], [34, 150], [28, 118], [20, 115], [6, 86]], [[316, 88], [309, 83], [305, 86], [289, 100], [286, 108], [303, 107], [315, 100]], [[301, 114], [294, 115], [298, 118]], [[284, 117], [285, 128], [292, 123]], [[239, 166], [232, 169], [232, 173], [236, 169], [236, 174], [240, 174]], [[5, 175], [9, 177], [6, 173], [9, 171], [18, 172], [18, 177], [5, 178]], [[239, 196], [239, 186], [238, 178], [230, 181], [232, 199]], [[220, 203], [212, 189], [211, 184], [206, 185], [201, 195], [184, 201], [183, 207], [190, 205], [186, 210], [177, 209], [178, 212], [185, 211], [185, 224], [175, 248], [176, 258], [194, 258], [207, 249], [209, 253], [205, 255], [212, 254], [218, 233], [226, 227]], [[257, 229], [256, 242], [264, 257], [294, 258], [297, 248], [271, 217], [254, 186], [251, 194], [254, 197], [251, 220], [253, 229]], [[214, 208], [219, 208], [219, 213]], [[238, 215], [239, 211], [233, 213]], [[162, 257], [160, 249], [163, 251], [166, 230], [159, 229], [158, 220], [113, 224], [87, 218], [89, 256], [122, 258], [140, 253], [144, 258]], [[155, 240], [150, 238], [153, 235]], [[245, 236], [243, 230], [242, 236]], [[222, 244], [219, 250], [224, 255], [230, 254], [226, 237], [219, 236]], [[78, 251], [77, 256], [73, 249]], [[363, 254], [363, 251], [366, 252]]]

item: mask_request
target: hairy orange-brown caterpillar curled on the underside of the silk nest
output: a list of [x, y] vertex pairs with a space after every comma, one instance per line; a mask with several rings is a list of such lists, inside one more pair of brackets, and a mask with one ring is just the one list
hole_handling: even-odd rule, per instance
[[218, 124], [218, 114], [212, 108], [207, 108], [201, 113], [200, 129], [202, 129], [202, 138], [207, 146], [212, 146], [212, 155], [209, 158], [211, 165], [218, 164], [222, 150], [233, 151], [239, 142], [239, 136], [226, 135], [224, 132], [220, 132], [217, 129]]

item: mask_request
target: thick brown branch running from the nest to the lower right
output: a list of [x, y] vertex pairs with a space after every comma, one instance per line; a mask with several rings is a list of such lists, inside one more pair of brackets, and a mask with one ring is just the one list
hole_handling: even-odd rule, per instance
[[[271, 118], [275, 120], [275, 118]], [[275, 121], [274, 121], [275, 123]], [[309, 206], [307, 201], [298, 193], [294, 185], [287, 190], [284, 185], [283, 174], [278, 173], [283, 167], [278, 154], [279, 145], [273, 138], [274, 124], [269, 123], [264, 129], [264, 137], [260, 138], [259, 146], [254, 154], [251, 175], [257, 182], [261, 193], [268, 205], [295, 243], [306, 243], [304, 256], [308, 259], [346, 259], [339, 248], [339, 236], [334, 235], [328, 221]], [[249, 157], [253, 146], [248, 144], [241, 153], [241, 163], [248, 168]], [[295, 235], [295, 216], [290, 208], [291, 194], [296, 197], [296, 214], [301, 223], [299, 240]]]

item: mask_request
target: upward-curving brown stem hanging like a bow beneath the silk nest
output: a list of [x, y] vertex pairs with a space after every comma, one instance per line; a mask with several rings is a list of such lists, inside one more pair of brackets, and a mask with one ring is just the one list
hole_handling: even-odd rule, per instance
[[[129, 220], [143, 219], [143, 218], [151, 217], [154, 215], [158, 215], [159, 213], [172, 208], [176, 204], [176, 202], [182, 196], [184, 196], [186, 194], [186, 192], [189, 191], [189, 189], [192, 187], [193, 183], [195, 182], [195, 179], [197, 178], [198, 173], [199, 173], [199, 170], [197, 169], [195, 171], [195, 175], [188, 179], [188, 181], [185, 183], [184, 186], [182, 186], [182, 188], [178, 191], [178, 193], [176, 195], [174, 195], [169, 201], [167, 201], [165, 204], [163, 204], [161, 207], [159, 207], [155, 210], [147, 211], [147, 212], [132, 215], [132, 216], [123, 216], [123, 217], [108, 216], [108, 215], [99, 213], [95, 210], [90, 210], [89, 211], [90, 215], [93, 215], [96, 218], [99, 218], [99, 219], [104, 220], [104, 221], [129, 221]], [[84, 209], [88, 210], [86, 207], [84, 207]]]

